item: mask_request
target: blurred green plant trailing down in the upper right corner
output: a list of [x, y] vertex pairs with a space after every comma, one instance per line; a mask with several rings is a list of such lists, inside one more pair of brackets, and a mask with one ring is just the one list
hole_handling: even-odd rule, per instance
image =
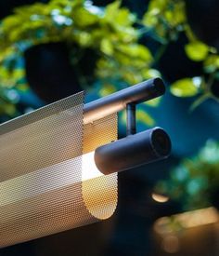
[[[170, 41], [177, 40], [180, 33], [185, 33], [188, 40], [185, 46], [187, 58], [191, 61], [202, 62], [203, 72], [200, 76], [185, 77], [174, 82], [171, 86], [174, 96], [194, 97], [198, 95], [199, 98], [194, 101], [191, 109], [209, 98], [218, 101], [212, 92], [213, 83], [219, 79], [218, 51], [201, 42], [193, 34], [187, 22], [185, 2], [182, 0], [151, 0], [143, 18], [143, 24], [161, 43], [161, 54]], [[161, 57], [160, 54], [158, 56]]]

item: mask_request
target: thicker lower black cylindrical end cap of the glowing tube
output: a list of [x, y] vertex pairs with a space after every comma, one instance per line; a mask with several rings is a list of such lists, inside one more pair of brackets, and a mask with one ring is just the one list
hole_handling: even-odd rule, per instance
[[102, 173], [110, 174], [161, 160], [170, 152], [168, 134], [162, 128], [151, 128], [98, 147], [95, 162]]

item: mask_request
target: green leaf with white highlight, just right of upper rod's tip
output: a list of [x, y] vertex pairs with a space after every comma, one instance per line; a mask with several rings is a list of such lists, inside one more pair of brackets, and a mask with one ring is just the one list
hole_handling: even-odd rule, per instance
[[200, 77], [183, 78], [174, 82], [170, 90], [177, 97], [193, 97], [200, 92]]

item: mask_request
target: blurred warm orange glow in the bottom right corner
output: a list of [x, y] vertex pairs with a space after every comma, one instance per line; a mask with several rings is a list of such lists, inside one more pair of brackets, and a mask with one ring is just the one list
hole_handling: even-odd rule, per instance
[[155, 231], [163, 236], [174, 232], [171, 223], [178, 222], [183, 228], [191, 228], [200, 225], [212, 224], [219, 221], [218, 211], [213, 207], [207, 209], [196, 209], [171, 217], [162, 217], [154, 224]]

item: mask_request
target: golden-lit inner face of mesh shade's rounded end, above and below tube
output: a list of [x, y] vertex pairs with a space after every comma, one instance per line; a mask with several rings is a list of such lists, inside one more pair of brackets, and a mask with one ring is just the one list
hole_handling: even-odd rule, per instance
[[[117, 115], [84, 126], [84, 154], [117, 140]], [[83, 182], [84, 204], [97, 219], [109, 218], [117, 206], [117, 173]]]

